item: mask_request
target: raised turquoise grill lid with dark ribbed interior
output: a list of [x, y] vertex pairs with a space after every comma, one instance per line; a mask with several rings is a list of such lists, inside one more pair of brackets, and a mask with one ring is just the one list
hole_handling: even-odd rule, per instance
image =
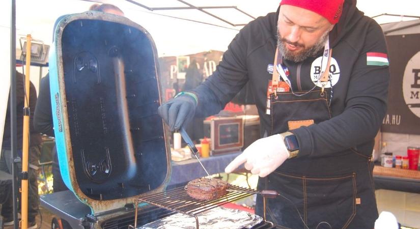
[[169, 142], [157, 115], [159, 66], [150, 34], [125, 17], [59, 18], [49, 54], [61, 175], [92, 214], [164, 191]]

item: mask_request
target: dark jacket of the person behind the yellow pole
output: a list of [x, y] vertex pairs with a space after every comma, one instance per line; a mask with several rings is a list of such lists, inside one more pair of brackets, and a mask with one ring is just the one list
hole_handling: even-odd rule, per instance
[[[16, 71], [16, 135], [17, 135], [17, 149], [22, 149], [22, 137], [23, 137], [23, 107], [25, 105], [25, 92], [24, 92], [24, 75]], [[31, 142], [30, 146], [37, 146], [41, 144], [41, 134], [34, 129], [34, 112], [37, 104], [37, 91], [34, 84], [30, 82], [29, 90], [29, 107], [31, 108], [30, 117], [30, 131], [31, 131]], [[10, 95], [7, 103], [7, 113], [5, 129], [3, 133], [3, 145], [2, 149], [11, 150], [11, 136], [10, 136], [11, 118], [10, 118]]]

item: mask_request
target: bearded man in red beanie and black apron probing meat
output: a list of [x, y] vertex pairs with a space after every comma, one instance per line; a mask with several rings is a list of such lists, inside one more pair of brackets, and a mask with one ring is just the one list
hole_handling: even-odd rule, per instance
[[[325, 74], [324, 74], [325, 73]], [[176, 130], [219, 112], [249, 82], [261, 139], [226, 168], [244, 164], [258, 189], [276, 190], [256, 213], [289, 228], [373, 228], [371, 161], [386, 112], [389, 68], [378, 23], [356, 0], [282, 0], [249, 22], [216, 71], [158, 108]], [[265, 203], [264, 203], [265, 204]]]

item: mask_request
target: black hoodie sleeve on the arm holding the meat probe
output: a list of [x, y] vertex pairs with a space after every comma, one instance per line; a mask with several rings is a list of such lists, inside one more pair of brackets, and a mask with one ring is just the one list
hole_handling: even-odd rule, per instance
[[193, 90], [198, 95], [196, 117], [218, 113], [248, 81], [246, 58], [249, 25], [242, 28], [223, 53], [216, 71]]

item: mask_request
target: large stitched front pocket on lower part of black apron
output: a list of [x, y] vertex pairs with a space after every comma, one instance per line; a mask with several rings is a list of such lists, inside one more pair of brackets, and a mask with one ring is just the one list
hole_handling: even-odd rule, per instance
[[[274, 171], [263, 186], [282, 194], [267, 199], [266, 206], [267, 219], [281, 226], [306, 228], [304, 222], [309, 228], [347, 228], [356, 215], [355, 174], [310, 178]], [[258, 202], [262, 199], [257, 196]]]

